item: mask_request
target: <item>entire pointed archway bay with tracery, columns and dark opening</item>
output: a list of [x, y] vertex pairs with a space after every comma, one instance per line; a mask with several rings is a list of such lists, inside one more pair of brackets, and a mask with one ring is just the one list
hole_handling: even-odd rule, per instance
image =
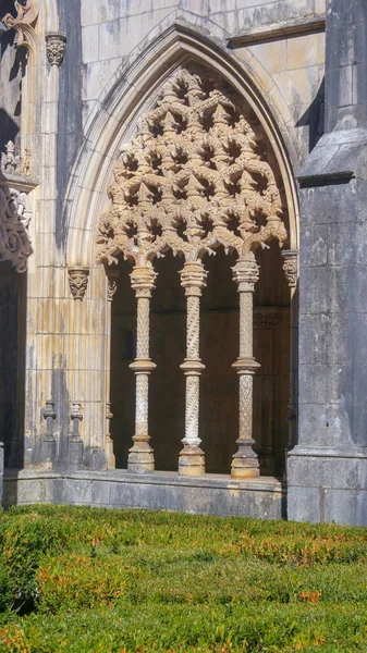
[[[154, 469], [154, 440], [159, 443], [155, 446], [160, 467], [172, 467], [174, 449], [171, 445], [176, 435], [166, 440], [164, 458], [164, 454], [159, 453], [164, 442], [164, 424], [154, 426], [157, 414], [161, 412], [160, 421], [164, 421], [166, 415], [166, 427], [169, 427], [168, 412], [171, 410], [174, 433], [185, 433], [180, 456], [176, 453], [180, 473], [199, 476], [205, 472], [205, 453], [200, 447], [204, 439], [210, 449], [207, 454], [209, 470], [230, 471], [233, 453], [233, 477], [258, 476], [255, 433], [259, 433], [257, 451], [266, 471], [281, 471], [279, 451], [284, 449], [286, 441], [285, 426], [281, 422], [285, 417], [283, 411], [289, 394], [288, 355], [283, 355], [289, 343], [289, 301], [281, 258], [274, 245], [277, 242], [280, 246], [288, 243], [289, 224], [280, 172], [255, 113], [212, 71], [194, 62], [183, 65], [163, 85], [155, 109], [143, 116], [137, 135], [115, 164], [110, 197], [111, 209], [99, 223], [99, 260], [105, 264], [117, 264], [120, 255], [123, 255], [133, 261], [131, 287], [137, 299], [137, 312], [126, 309], [131, 322], [127, 328], [126, 313], [123, 326], [126, 338], [132, 343], [133, 337], [127, 334], [135, 331], [132, 331], [132, 324], [136, 321], [136, 352], [134, 361], [130, 364], [136, 377], [135, 431], [127, 468], [132, 471]], [[175, 274], [175, 281], [168, 270], [163, 274], [159, 270], [162, 266], [160, 258], [171, 258], [169, 251], [181, 257], [181, 266], [175, 270], [180, 275]], [[219, 263], [212, 264], [210, 259], [207, 262], [208, 256], [216, 254]], [[231, 264], [230, 256], [233, 257]], [[219, 268], [216, 272], [216, 266], [222, 272], [218, 273]], [[123, 270], [121, 272], [124, 275], [124, 281], [120, 282], [123, 287], [127, 274]], [[211, 279], [217, 274], [211, 294], [210, 273]], [[171, 297], [173, 308], [164, 309], [164, 293]], [[255, 310], [255, 320], [254, 293], [255, 307], [262, 310], [262, 313], [258, 311], [259, 317]], [[115, 306], [119, 296], [120, 299], [124, 296], [123, 301], [132, 307], [131, 291], [119, 291]], [[218, 305], [218, 296], [223, 298], [223, 305]], [[280, 320], [282, 309], [284, 319]], [[166, 315], [164, 328], [161, 320], [158, 329], [161, 348], [157, 350], [158, 340], [152, 337], [155, 315], [164, 310], [171, 311], [175, 319], [171, 319], [172, 325], [169, 326], [169, 316]], [[114, 312], [119, 313], [119, 309], [114, 308]], [[179, 313], [184, 316], [186, 330], [182, 321], [179, 326]], [[254, 324], [258, 321], [258, 324], [265, 325], [259, 331], [267, 331], [267, 325], [271, 326], [269, 330], [277, 331], [279, 320], [283, 328], [280, 325], [282, 335], [278, 340], [269, 337], [269, 334], [255, 338], [255, 349], [264, 349], [267, 366], [262, 385], [255, 381], [254, 404], [254, 375], [259, 368], [254, 357]], [[203, 332], [207, 333], [204, 345]], [[215, 338], [208, 345], [210, 334], [216, 332], [220, 334], [218, 342]], [[220, 341], [222, 345], [218, 344]], [[151, 347], [150, 342], [154, 343]], [[180, 342], [184, 346], [178, 345]], [[175, 355], [170, 358], [175, 374], [174, 382], [172, 375], [170, 383], [171, 372], [167, 369], [161, 377], [161, 382], [169, 384], [164, 390], [157, 381], [164, 371], [163, 360], [158, 366], [160, 371], [156, 372], [157, 360], [152, 361], [150, 352], [156, 349], [159, 358], [163, 347], [169, 352], [170, 346], [171, 352], [175, 349]], [[184, 358], [181, 364], [175, 360], [180, 347]], [[207, 348], [205, 358], [203, 347]], [[234, 349], [236, 356], [233, 356]], [[222, 352], [225, 352], [224, 357], [219, 355]], [[230, 358], [232, 362], [229, 365]], [[209, 368], [211, 366], [211, 373], [207, 374], [209, 382], [205, 380], [206, 359]], [[213, 366], [218, 366], [220, 360], [224, 371], [218, 371]], [[176, 381], [179, 366], [185, 391], [182, 380]], [[236, 375], [231, 366], [237, 372], [236, 392], [233, 383]], [[156, 375], [154, 385], [150, 383], [151, 373]], [[112, 404], [117, 395], [117, 373], [113, 378], [112, 370]], [[120, 383], [124, 379], [121, 374]], [[219, 383], [221, 379], [222, 386]], [[174, 401], [171, 402], [170, 390], [173, 386]], [[125, 387], [129, 387], [130, 397], [125, 406], [131, 407], [131, 383], [126, 381]], [[178, 402], [176, 409], [172, 410], [178, 393], [181, 394], [181, 405]], [[207, 398], [204, 399], [204, 412], [200, 410], [203, 396]], [[164, 403], [166, 410], [161, 410]], [[184, 420], [180, 406], [184, 407]], [[215, 409], [218, 417], [213, 417]], [[115, 407], [112, 406], [112, 410], [115, 415], [112, 435], [118, 441], [115, 429], [119, 419]], [[205, 410], [208, 411], [207, 417]], [[131, 422], [131, 417], [126, 418], [125, 424]], [[210, 422], [215, 424], [215, 440], [210, 439]], [[234, 431], [231, 433], [234, 424], [236, 435]], [[156, 435], [154, 431], [157, 431]], [[121, 445], [117, 445], [117, 449], [118, 446]], [[125, 444], [121, 446], [121, 460], [126, 458], [126, 448]]]

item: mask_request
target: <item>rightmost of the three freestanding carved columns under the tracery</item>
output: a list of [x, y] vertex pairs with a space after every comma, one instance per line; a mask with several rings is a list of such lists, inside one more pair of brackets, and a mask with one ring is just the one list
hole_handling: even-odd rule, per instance
[[253, 356], [253, 293], [259, 267], [250, 252], [240, 258], [232, 270], [240, 293], [240, 356], [233, 364], [240, 377], [240, 428], [238, 451], [232, 459], [231, 476], [246, 479], [259, 476], [259, 463], [253, 449], [253, 377], [259, 367]]

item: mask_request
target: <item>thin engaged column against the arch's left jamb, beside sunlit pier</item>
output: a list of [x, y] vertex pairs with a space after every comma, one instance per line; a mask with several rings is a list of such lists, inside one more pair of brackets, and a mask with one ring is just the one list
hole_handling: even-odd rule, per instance
[[119, 270], [107, 270], [107, 307], [106, 307], [106, 434], [105, 451], [108, 469], [115, 467], [113, 441], [111, 438], [111, 310], [112, 299], [118, 289]]

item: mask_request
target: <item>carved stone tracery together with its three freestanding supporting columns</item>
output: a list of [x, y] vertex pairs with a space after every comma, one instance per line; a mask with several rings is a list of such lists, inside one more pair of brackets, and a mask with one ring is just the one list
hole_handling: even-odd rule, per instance
[[[134, 263], [137, 287], [138, 278], [144, 285], [144, 278], [154, 274], [155, 258], [167, 250], [185, 259], [181, 273], [187, 297], [186, 359], [181, 366], [186, 375], [182, 473], [205, 470], [197, 434], [199, 374], [204, 369], [199, 359], [199, 297], [206, 279], [201, 259], [222, 246], [225, 252], [238, 255], [233, 278], [241, 298], [241, 352], [234, 364], [240, 374], [240, 451], [232, 472], [236, 478], [258, 475], [250, 435], [253, 374], [258, 367], [252, 355], [253, 292], [258, 278], [254, 251], [267, 248], [273, 239], [281, 247], [288, 241], [280, 184], [270, 160], [266, 135], [241, 96], [212, 71], [188, 63], [166, 82], [156, 107], [143, 116], [136, 136], [113, 169], [111, 206], [99, 221], [98, 261], [110, 266], [122, 254]], [[147, 333], [147, 338], [150, 288], [144, 328], [138, 299], [138, 333]], [[148, 344], [144, 357], [150, 362], [146, 352]], [[137, 354], [131, 366], [134, 369], [138, 358]], [[149, 446], [150, 367], [137, 375], [137, 410], [144, 399], [144, 434], [137, 440], [134, 436], [133, 448], [142, 435]], [[140, 468], [138, 455], [134, 458], [139, 470], [151, 469], [151, 455], [147, 463], [142, 457]]]

